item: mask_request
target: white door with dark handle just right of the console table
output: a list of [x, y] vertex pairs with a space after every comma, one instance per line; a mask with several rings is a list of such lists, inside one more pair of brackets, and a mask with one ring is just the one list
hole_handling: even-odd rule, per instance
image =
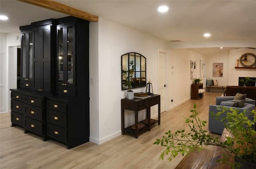
[[158, 53], [158, 93], [160, 94], [161, 98], [161, 113], [165, 111], [165, 102], [166, 102], [166, 95], [165, 95], [165, 54], [159, 52]]

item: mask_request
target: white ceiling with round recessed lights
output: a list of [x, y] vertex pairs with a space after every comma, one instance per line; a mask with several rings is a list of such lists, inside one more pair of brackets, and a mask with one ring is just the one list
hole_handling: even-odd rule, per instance
[[[56, 1], [167, 41], [256, 40], [256, 0]], [[161, 5], [168, 6], [168, 12], [159, 13], [157, 8]], [[16, 0], [0, 0], [0, 14], [9, 17], [0, 22], [0, 31], [4, 33], [17, 31], [19, 26], [31, 22], [67, 16]], [[204, 38], [204, 33], [212, 36]], [[207, 56], [210, 49], [192, 50]], [[211, 48], [211, 54], [219, 50]]]

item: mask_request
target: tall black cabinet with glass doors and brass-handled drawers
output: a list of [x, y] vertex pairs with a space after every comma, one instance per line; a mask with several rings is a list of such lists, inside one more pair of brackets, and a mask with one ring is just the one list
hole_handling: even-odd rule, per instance
[[10, 89], [12, 126], [67, 149], [88, 142], [89, 21], [69, 16], [20, 29], [26, 45], [22, 87]]

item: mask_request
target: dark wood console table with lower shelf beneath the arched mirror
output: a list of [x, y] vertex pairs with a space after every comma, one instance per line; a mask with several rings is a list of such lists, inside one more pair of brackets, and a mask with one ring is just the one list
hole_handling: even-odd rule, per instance
[[[153, 105], [158, 104], [158, 120], [154, 120], [153, 123], [150, 122], [150, 107]], [[135, 116], [135, 126], [134, 129], [132, 129], [132, 126], [124, 128], [124, 110], [131, 110], [134, 111]], [[138, 111], [142, 109], [147, 109], [146, 111], [146, 118], [147, 123], [145, 124], [145, 127], [142, 129], [138, 129], [138, 123], [143, 123], [143, 121], [138, 122]], [[134, 133], [134, 137], [138, 138], [139, 131], [148, 130], [150, 131], [151, 125], [154, 125], [158, 123], [160, 125], [160, 95], [154, 94], [150, 95], [150, 97], [140, 99], [140, 98], [134, 98], [132, 100], [129, 100], [127, 98], [121, 99], [121, 128], [122, 128], [122, 135], [124, 135], [125, 132]]]

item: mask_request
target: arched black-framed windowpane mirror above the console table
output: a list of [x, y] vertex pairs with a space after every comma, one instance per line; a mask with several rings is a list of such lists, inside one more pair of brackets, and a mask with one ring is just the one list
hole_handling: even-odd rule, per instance
[[129, 88], [126, 84], [126, 77], [129, 76], [129, 72], [132, 68], [134, 68], [134, 73], [130, 78], [131, 88], [133, 89], [146, 86], [146, 58], [142, 54], [130, 52], [122, 55], [121, 67], [122, 90]]

